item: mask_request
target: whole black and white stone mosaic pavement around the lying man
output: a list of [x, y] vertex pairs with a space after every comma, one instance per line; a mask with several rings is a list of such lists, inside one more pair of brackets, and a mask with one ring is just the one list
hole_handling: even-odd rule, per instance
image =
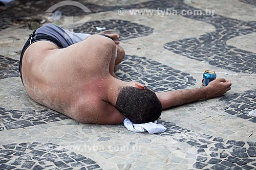
[[[256, 110], [254, 0], [81, 0], [59, 5], [60, 19], [49, 19], [45, 11], [59, 2], [1, 7], [0, 169], [256, 169], [256, 117], [248, 114]], [[35, 103], [18, 77], [31, 29], [49, 22], [79, 33], [118, 30], [126, 54], [121, 80], [156, 92], [200, 88], [209, 69], [232, 88], [164, 110], [164, 133], [78, 123]]]

